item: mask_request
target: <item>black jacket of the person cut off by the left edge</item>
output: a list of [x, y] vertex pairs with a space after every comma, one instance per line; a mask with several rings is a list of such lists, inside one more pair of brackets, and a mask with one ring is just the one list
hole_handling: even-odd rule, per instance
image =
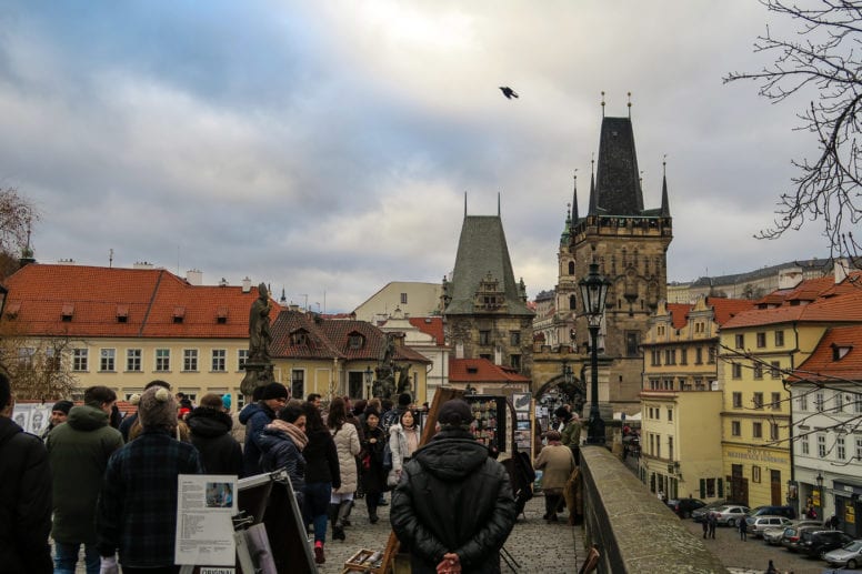
[[38, 436], [0, 416], [0, 571], [50, 574], [51, 469]]

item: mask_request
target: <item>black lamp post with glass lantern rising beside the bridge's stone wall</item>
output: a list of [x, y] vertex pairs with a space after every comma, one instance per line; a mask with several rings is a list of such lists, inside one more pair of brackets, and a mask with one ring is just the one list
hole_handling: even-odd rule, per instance
[[599, 274], [599, 264], [590, 263], [590, 273], [578, 282], [581, 289], [581, 303], [583, 314], [587, 316], [587, 325], [590, 330], [590, 363], [592, 373], [590, 376], [590, 420], [587, 434], [587, 444], [604, 444], [604, 421], [599, 412], [599, 328], [604, 315], [604, 298], [608, 296], [608, 288], [611, 285], [604, 276]]

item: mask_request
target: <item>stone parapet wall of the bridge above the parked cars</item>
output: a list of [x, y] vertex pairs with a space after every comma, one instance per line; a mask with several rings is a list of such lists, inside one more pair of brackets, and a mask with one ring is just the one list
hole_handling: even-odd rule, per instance
[[587, 548], [598, 545], [601, 558], [597, 572], [728, 572], [610, 451], [581, 446], [581, 472], [583, 540]]

